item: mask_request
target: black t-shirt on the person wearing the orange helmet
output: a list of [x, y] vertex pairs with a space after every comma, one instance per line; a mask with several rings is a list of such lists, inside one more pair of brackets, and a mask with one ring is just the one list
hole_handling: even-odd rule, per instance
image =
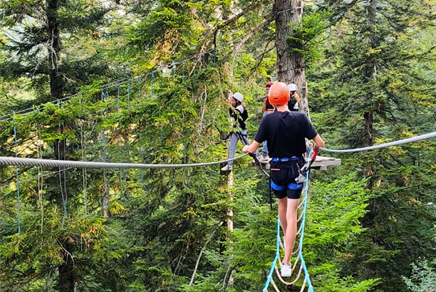
[[306, 152], [306, 140], [318, 135], [306, 115], [299, 112], [274, 112], [262, 120], [254, 140], [268, 141], [269, 157], [301, 156]]

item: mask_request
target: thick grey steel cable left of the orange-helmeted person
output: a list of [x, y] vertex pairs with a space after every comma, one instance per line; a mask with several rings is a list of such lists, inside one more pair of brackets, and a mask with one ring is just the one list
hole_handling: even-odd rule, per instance
[[214, 162], [202, 162], [202, 163], [188, 163], [188, 164], [176, 164], [176, 165], [159, 165], [159, 164], [144, 164], [144, 163], [114, 163], [114, 162], [86, 162], [86, 161], [73, 161], [73, 160], [41, 160], [35, 158], [19, 158], [19, 157], [0, 157], [0, 165], [27, 165], [27, 166], [39, 166], [39, 167], [73, 167], [73, 168], [103, 168], [103, 169], [129, 169], [129, 168], [182, 168], [182, 167], [202, 167], [208, 165], [218, 165], [224, 162], [230, 162], [237, 160], [241, 157], [248, 155], [239, 155], [228, 160], [219, 160]]

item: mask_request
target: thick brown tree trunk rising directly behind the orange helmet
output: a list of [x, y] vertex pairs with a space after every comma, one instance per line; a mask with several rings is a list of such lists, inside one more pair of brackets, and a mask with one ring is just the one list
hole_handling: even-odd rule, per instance
[[287, 40], [292, 30], [289, 24], [298, 24], [303, 15], [301, 0], [276, 0], [276, 51], [277, 74], [285, 83], [295, 83], [299, 87], [300, 110], [308, 115], [307, 83], [303, 57], [292, 52], [292, 43]]

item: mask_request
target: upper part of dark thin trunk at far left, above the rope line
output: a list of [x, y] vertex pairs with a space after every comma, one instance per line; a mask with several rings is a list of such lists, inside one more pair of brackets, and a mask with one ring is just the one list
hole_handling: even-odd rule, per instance
[[63, 78], [59, 72], [61, 63], [61, 38], [59, 36], [58, 0], [46, 0], [48, 33], [48, 67], [50, 68], [50, 93], [52, 98], [63, 95]]

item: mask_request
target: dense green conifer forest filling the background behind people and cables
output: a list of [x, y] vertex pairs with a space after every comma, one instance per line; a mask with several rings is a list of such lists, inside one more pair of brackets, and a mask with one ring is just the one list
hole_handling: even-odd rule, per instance
[[[1, 0], [1, 156], [223, 160], [229, 93], [245, 96], [254, 137], [276, 19], [298, 9], [286, 40], [327, 147], [436, 131], [433, 0]], [[311, 172], [315, 291], [436, 291], [435, 146]], [[260, 291], [276, 211], [249, 160], [230, 189], [218, 166], [1, 168], [0, 291]]]

